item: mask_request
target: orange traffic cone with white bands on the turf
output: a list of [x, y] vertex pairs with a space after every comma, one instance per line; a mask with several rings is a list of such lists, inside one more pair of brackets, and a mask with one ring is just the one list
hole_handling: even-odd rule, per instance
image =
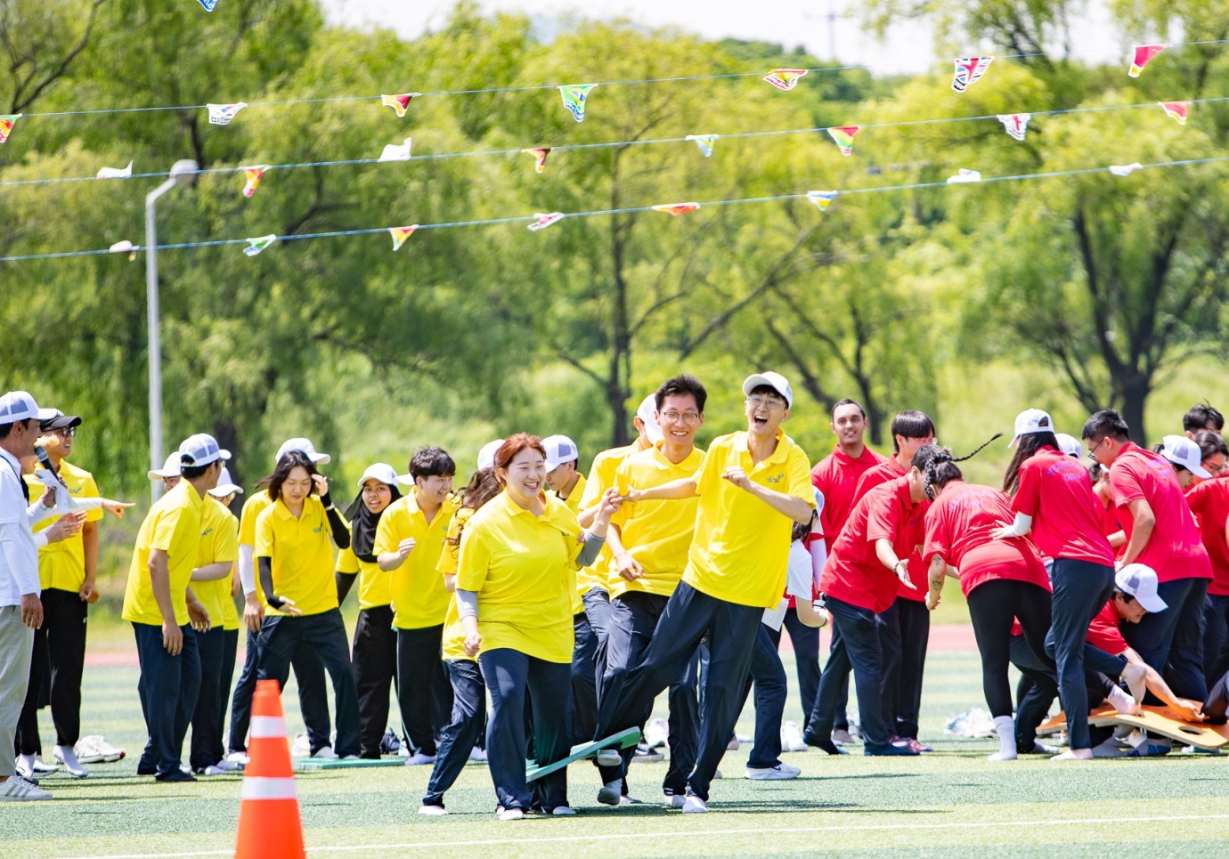
[[304, 859], [295, 775], [278, 681], [262, 680], [252, 696], [252, 725], [243, 768], [236, 859]]

